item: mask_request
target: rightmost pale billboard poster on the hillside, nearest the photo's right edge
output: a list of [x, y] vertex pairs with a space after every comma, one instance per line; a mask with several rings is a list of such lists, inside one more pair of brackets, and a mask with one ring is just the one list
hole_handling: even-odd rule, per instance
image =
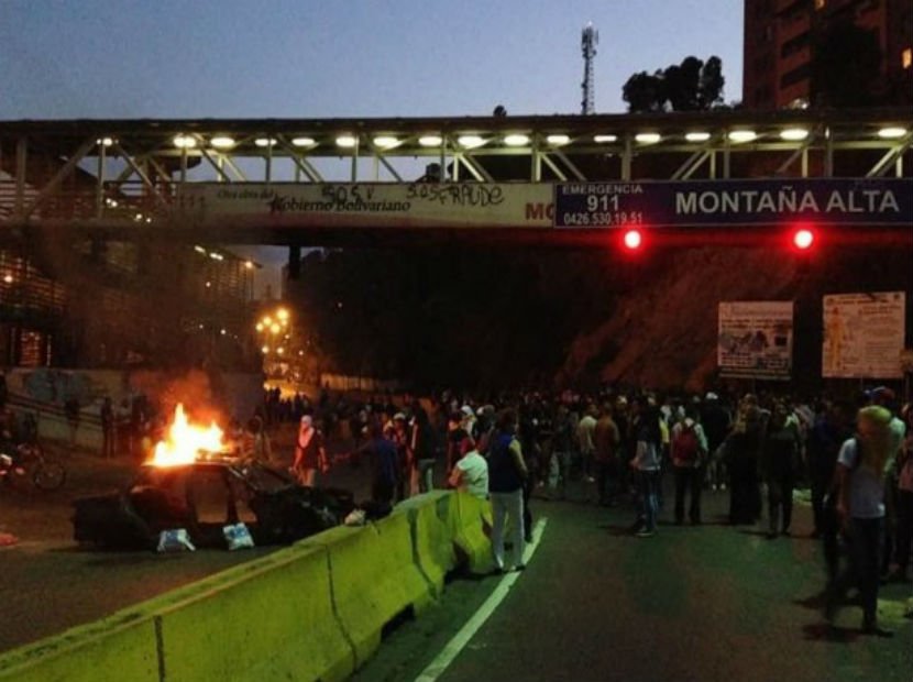
[[903, 376], [905, 309], [903, 292], [825, 296], [822, 376]]

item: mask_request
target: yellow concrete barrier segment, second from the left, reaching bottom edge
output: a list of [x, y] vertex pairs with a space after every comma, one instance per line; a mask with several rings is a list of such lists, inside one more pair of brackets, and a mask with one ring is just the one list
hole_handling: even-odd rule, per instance
[[292, 547], [170, 593], [156, 615], [165, 680], [344, 680], [354, 650], [328, 557]]

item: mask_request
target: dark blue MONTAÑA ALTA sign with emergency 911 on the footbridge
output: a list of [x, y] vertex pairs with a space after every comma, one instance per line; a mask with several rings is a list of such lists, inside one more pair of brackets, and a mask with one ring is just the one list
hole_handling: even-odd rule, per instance
[[913, 179], [821, 178], [556, 185], [556, 228], [730, 227], [803, 220], [913, 226]]

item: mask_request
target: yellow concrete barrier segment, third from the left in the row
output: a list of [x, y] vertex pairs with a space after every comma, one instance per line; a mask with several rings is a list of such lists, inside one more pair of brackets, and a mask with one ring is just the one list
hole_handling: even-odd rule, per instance
[[395, 512], [358, 528], [332, 528], [301, 540], [329, 552], [336, 613], [361, 666], [381, 645], [384, 626], [431, 603], [431, 585], [413, 561], [408, 516]]

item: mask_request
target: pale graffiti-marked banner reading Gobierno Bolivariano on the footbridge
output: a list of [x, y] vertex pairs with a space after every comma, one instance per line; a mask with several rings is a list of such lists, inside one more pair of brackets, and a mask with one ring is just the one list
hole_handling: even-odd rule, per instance
[[552, 187], [537, 183], [189, 183], [198, 226], [551, 228]]

